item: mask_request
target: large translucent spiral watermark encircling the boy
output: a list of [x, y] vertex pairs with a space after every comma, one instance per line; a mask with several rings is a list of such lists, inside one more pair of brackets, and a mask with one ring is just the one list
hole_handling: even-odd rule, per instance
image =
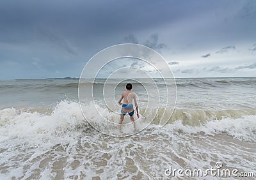
[[[138, 98], [143, 99], [144, 109], [135, 120], [143, 123], [135, 131], [120, 133], [116, 131], [121, 108], [116, 101], [116, 88], [125, 82], [134, 82], [135, 91], [138, 86], [145, 89], [140, 94], [136, 92]], [[99, 100], [99, 97], [102, 98]], [[125, 43], [101, 50], [85, 64], [79, 79], [78, 98], [83, 116], [93, 128], [107, 135], [124, 137], [143, 130], [156, 116], [160, 126], [168, 122], [175, 108], [176, 84], [170, 65], [159, 53], [144, 45]], [[132, 123], [122, 126], [124, 130], [132, 129]]]

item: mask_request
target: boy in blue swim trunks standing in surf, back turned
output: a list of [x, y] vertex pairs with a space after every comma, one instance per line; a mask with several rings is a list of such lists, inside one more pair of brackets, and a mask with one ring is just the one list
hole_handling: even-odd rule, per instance
[[[137, 117], [140, 117], [139, 114], [139, 108], [138, 108], [138, 104], [137, 104], [137, 100], [136, 100], [136, 94], [132, 93], [132, 84], [128, 83], [126, 84], [126, 91], [124, 91], [121, 95], [120, 100], [118, 101], [118, 103], [120, 105], [122, 105], [122, 109], [121, 109], [121, 114], [120, 114], [120, 121], [119, 121], [119, 125], [118, 128], [120, 130], [121, 128], [121, 124], [124, 121], [124, 116], [125, 114], [128, 112], [131, 121], [133, 123], [134, 129], [135, 129], [135, 121], [133, 118], [133, 114], [134, 114], [134, 109], [133, 109], [133, 105], [132, 105], [132, 100], [134, 100], [134, 104], [136, 107], [136, 112], [137, 112]], [[124, 98], [124, 103], [121, 103], [122, 99]]]

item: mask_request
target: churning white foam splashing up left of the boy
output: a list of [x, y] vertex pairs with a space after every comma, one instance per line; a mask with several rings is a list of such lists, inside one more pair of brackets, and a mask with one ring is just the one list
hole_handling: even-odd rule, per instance
[[79, 104], [73, 101], [61, 101], [51, 114], [3, 109], [0, 110], [0, 140], [18, 138], [35, 144], [54, 142], [61, 133], [66, 137], [65, 131], [84, 122]]

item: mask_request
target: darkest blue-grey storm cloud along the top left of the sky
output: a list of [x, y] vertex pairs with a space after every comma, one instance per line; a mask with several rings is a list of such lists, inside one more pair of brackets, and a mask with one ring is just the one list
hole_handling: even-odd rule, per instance
[[[179, 17], [170, 1], [1, 1], [1, 31], [14, 41], [29, 41], [35, 27], [52, 29], [79, 41], [93, 36], [157, 27]], [[180, 8], [186, 4], [180, 3]], [[185, 7], [184, 7], [185, 8]], [[192, 13], [191, 10], [188, 13]], [[4, 38], [8, 40], [9, 37]], [[83, 40], [83, 39], [82, 39]]]

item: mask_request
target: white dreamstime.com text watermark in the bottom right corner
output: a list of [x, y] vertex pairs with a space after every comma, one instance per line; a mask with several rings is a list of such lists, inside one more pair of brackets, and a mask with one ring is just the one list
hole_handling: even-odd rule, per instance
[[172, 169], [170, 166], [169, 169], [164, 171], [166, 176], [170, 177], [205, 177], [205, 176], [214, 176], [214, 177], [253, 177], [253, 172], [239, 172], [237, 169], [221, 169], [223, 167], [221, 162], [216, 162], [215, 168], [210, 169]]

